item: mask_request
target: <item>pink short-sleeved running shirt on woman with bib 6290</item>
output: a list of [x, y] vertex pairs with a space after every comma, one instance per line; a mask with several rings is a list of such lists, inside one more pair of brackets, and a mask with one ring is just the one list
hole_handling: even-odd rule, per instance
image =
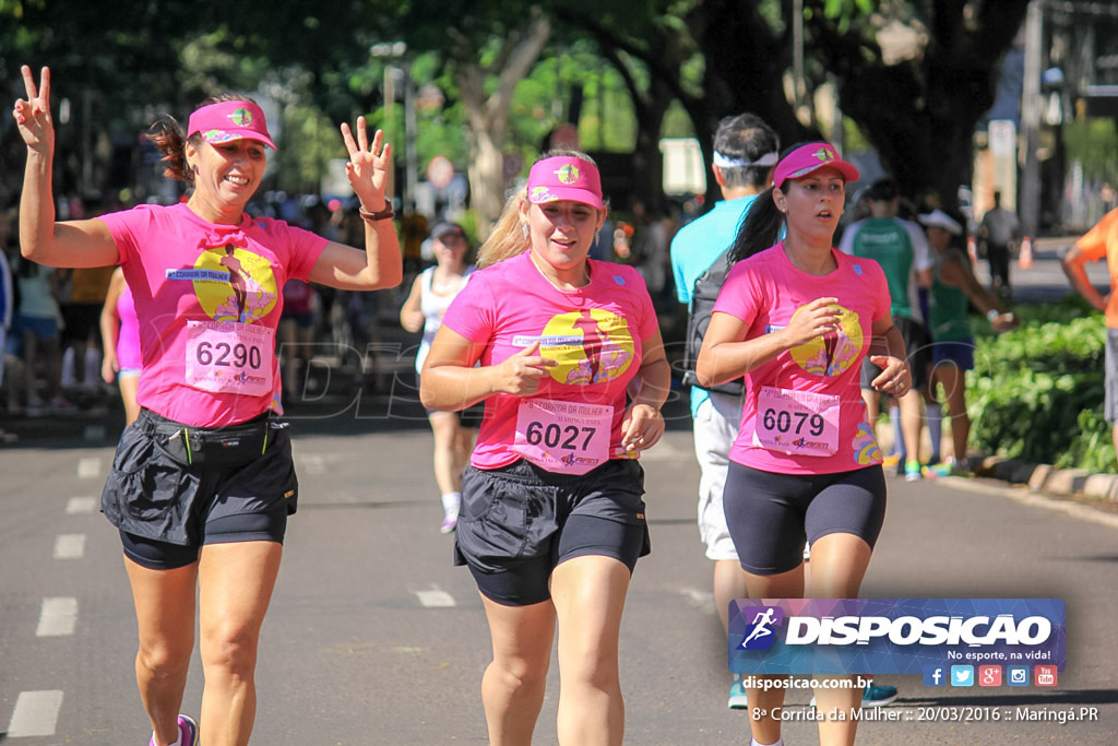
[[[215, 328], [236, 322], [255, 331], [255, 339], [274, 338], [284, 283], [288, 277], [307, 277], [326, 239], [282, 220], [248, 215], [236, 226], [207, 223], [181, 202], [141, 205], [98, 219], [116, 240], [140, 319], [140, 405], [195, 427], [221, 427], [269, 408], [280, 410], [274, 348], [250, 360], [258, 378], [271, 377], [269, 393], [211, 391], [189, 385], [188, 321], [196, 328], [198, 322]], [[207, 362], [244, 362], [239, 357], [216, 355]], [[241, 372], [247, 375], [248, 368]]]

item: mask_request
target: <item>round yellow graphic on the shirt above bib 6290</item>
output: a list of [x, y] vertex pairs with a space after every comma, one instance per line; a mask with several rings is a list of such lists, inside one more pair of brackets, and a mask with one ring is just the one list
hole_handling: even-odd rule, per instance
[[276, 277], [258, 254], [234, 246], [211, 248], [198, 256], [195, 268], [207, 271], [193, 281], [195, 294], [215, 321], [253, 323], [275, 308]]

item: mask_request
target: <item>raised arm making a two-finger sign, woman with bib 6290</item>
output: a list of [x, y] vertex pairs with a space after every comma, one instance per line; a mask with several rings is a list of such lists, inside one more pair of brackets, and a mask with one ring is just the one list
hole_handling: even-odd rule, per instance
[[55, 221], [51, 169], [55, 131], [50, 120], [50, 70], [35, 85], [23, 65], [27, 100], [16, 101], [12, 116], [27, 144], [23, 191], [19, 201], [19, 244], [25, 257], [56, 267], [103, 267], [120, 263], [120, 252], [101, 220]]

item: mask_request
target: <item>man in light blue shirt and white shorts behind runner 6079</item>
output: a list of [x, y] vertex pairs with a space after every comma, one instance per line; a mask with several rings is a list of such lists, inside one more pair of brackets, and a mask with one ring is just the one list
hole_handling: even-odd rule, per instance
[[[722, 191], [713, 209], [680, 228], [672, 239], [672, 273], [675, 293], [691, 310], [695, 281], [733, 243], [746, 211], [757, 195], [773, 185], [773, 169], [780, 143], [764, 121], [752, 114], [728, 116], [714, 133], [711, 170]], [[738, 435], [742, 397], [691, 388], [691, 416], [699, 481], [699, 532], [707, 557], [714, 561], [714, 605], [722, 627], [729, 624], [729, 605], [746, 597], [746, 576], [726, 527], [722, 488], [729, 469], [730, 445]], [[730, 707], [746, 707], [746, 692], [738, 678], [730, 687]]]

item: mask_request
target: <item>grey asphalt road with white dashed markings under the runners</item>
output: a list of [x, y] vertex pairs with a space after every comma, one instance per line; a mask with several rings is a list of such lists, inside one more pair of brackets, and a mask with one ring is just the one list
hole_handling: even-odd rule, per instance
[[[645, 461], [653, 554], [637, 566], [622, 633], [626, 743], [743, 744], [748, 716], [726, 707], [726, 642], [682, 425], [673, 422]], [[424, 423], [351, 412], [296, 417], [294, 427], [301, 506], [262, 638], [254, 743], [485, 743], [487, 631], [468, 574], [451, 565], [451, 538], [438, 533]], [[111, 454], [61, 444], [0, 452], [0, 742], [120, 746], [150, 735], [119, 540], [93, 500]], [[863, 595], [1063, 598], [1068, 667], [1051, 690], [926, 689], [919, 677], [882, 677], [901, 690], [888, 708], [898, 719], [863, 723], [859, 743], [1116, 743], [1118, 521], [1023, 502], [1024, 492], [994, 484], [889, 487]], [[556, 738], [556, 668], [541, 744]], [[200, 691], [196, 660], [186, 711], [198, 712]], [[1081, 707], [1097, 708], [1098, 720], [1018, 719]], [[991, 708], [999, 721], [921, 720], [992, 717]], [[35, 728], [45, 735], [19, 735]], [[789, 744], [816, 742], [812, 723], [789, 723], [785, 734]]]

